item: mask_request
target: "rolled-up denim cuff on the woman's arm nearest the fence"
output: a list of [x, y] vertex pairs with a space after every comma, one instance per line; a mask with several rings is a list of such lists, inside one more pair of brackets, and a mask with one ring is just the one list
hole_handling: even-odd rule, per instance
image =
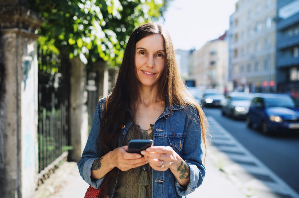
[[104, 176], [98, 180], [94, 180], [91, 178], [91, 166], [96, 159], [98, 158], [90, 158], [86, 160], [83, 166], [83, 177], [84, 177], [83, 179], [87, 182], [87, 184], [92, 186], [94, 189], [98, 189], [106, 177]]

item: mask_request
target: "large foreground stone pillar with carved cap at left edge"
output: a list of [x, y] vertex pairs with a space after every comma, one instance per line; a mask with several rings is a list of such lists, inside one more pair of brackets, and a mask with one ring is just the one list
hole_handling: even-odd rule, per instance
[[37, 46], [40, 19], [25, 0], [0, 1], [0, 197], [37, 185]]

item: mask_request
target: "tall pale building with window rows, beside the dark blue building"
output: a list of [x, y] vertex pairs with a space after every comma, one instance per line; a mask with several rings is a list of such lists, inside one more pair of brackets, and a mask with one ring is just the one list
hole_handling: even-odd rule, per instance
[[236, 91], [276, 91], [276, 2], [236, 3], [229, 29], [229, 70]]

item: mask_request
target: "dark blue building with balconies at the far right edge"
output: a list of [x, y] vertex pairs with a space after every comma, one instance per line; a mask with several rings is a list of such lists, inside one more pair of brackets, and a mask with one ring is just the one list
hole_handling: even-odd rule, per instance
[[299, 98], [299, 0], [278, 0], [277, 9], [277, 89]]

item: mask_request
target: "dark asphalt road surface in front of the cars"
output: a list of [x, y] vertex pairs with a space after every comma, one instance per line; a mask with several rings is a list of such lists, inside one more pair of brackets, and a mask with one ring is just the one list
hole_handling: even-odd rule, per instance
[[299, 132], [266, 136], [258, 129], [248, 129], [245, 120], [222, 116], [219, 108], [204, 108], [204, 112], [214, 117], [253, 155], [299, 193]]

